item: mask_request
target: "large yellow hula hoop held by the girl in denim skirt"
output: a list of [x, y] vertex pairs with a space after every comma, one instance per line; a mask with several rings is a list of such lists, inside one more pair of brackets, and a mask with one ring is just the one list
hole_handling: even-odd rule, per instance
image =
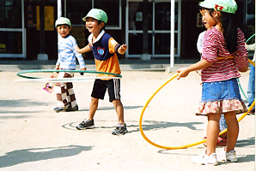
[[[254, 62], [253, 62], [254, 63]], [[254, 64], [255, 65], [255, 64]], [[143, 122], [143, 114], [144, 114], [144, 111], [145, 109], [147, 108], [149, 102], [151, 101], [151, 99], [153, 97], [155, 97], [155, 94], [160, 91], [162, 89], [163, 86], [167, 85], [168, 82], [170, 82], [171, 80], [174, 80], [175, 77], [177, 77], [179, 75], [179, 73], [177, 74], [174, 74], [174, 76], [172, 76], [169, 80], [167, 80], [163, 85], [161, 85], [153, 94], [151, 97], [149, 97], [149, 100], [146, 102], [146, 104], [143, 106], [143, 110], [141, 112], [141, 115], [140, 115], [140, 118], [139, 118], [139, 130], [140, 130], [140, 133], [142, 134], [143, 136], [143, 139], [145, 139], [149, 144], [152, 144], [154, 145], [155, 147], [158, 147], [158, 148], [161, 148], [161, 149], [167, 149], [167, 150], [177, 150], [177, 149], [186, 149], [188, 147], [192, 147], [192, 146], [195, 146], [195, 145], [198, 145], [198, 144], [202, 144], [202, 143], [205, 143], [206, 142], [206, 139], [203, 139], [201, 141], [198, 141], [196, 143], [192, 143], [192, 144], [186, 144], [186, 145], [182, 145], [182, 146], [174, 146], [174, 147], [171, 147], [171, 146], [164, 146], [164, 145], [161, 145], [161, 144], [155, 144], [154, 142], [152, 142], [150, 139], [147, 138], [147, 136], [143, 133], [143, 126], [142, 126], [142, 122]], [[253, 106], [255, 105], [255, 100], [253, 101], [252, 105], [249, 107], [248, 111], [244, 114], [241, 115], [241, 117], [237, 120], [237, 121], [241, 121], [248, 113], [249, 111], [251, 111], [251, 109], [253, 109]], [[227, 132], [227, 129], [223, 130], [221, 133], [219, 133], [219, 135], [222, 135], [223, 133], [226, 133]]]

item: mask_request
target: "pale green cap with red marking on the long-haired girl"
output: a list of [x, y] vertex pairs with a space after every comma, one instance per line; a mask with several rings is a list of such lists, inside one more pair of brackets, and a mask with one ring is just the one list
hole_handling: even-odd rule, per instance
[[232, 14], [235, 14], [237, 9], [235, 0], [204, 0], [203, 2], [199, 3], [199, 6]]

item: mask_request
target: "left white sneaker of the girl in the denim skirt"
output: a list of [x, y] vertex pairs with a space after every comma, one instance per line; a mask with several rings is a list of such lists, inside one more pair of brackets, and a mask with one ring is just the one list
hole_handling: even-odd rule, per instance
[[218, 161], [216, 159], [216, 153], [211, 153], [210, 156], [207, 156], [204, 152], [199, 154], [198, 156], [193, 156], [191, 161], [196, 164], [201, 164], [201, 165], [213, 165], [216, 166], [218, 164]]

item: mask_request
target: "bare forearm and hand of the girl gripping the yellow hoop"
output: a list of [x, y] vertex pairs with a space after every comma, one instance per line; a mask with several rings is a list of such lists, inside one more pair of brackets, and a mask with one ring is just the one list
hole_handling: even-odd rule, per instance
[[200, 70], [203, 68], [208, 68], [208, 67], [210, 67], [211, 64], [212, 63], [207, 62], [206, 60], [202, 59], [199, 62], [196, 62], [187, 68], [180, 68], [177, 71], [177, 73], [180, 73], [177, 77], [177, 80], [180, 80], [181, 77], [186, 77], [192, 71], [197, 71], [197, 70]]

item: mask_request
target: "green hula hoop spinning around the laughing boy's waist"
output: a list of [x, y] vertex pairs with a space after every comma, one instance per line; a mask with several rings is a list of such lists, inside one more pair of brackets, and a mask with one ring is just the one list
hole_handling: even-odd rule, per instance
[[122, 75], [120, 75], [120, 74], [107, 73], [107, 72], [83, 71], [83, 70], [57, 70], [57, 69], [26, 70], [26, 71], [21, 71], [21, 72], [17, 73], [16, 75], [21, 77], [21, 78], [24, 78], [24, 79], [42, 79], [42, 78], [39, 78], [39, 77], [32, 77], [32, 76], [27, 76], [27, 75], [22, 75], [22, 74], [27, 74], [27, 73], [53, 73], [53, 72], [111, 74], [111, 75], [114, 75], [116, 77], [122, 78]]

